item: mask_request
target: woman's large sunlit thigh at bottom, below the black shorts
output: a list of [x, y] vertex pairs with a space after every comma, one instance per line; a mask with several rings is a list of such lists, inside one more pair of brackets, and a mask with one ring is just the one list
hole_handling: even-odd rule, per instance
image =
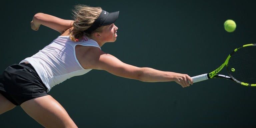
[[66, 110], [50, 95], [28, 100], [20, 106], [46, 128], [77, 128]]

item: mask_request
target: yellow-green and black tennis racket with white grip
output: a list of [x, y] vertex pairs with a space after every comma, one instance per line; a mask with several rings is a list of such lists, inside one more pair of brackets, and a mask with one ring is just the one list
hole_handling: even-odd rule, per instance
[[[228, 71], [228, 76], [217, 74], [224, 67]], [[246, 44], [235, 49], [216, 70], [192, 77], [193, 83], [212, 78], [223, 78], [245, 86], [256, 86], [256, 44]]]

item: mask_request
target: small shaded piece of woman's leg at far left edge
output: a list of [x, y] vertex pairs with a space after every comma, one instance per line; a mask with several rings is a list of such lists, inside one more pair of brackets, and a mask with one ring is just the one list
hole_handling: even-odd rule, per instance
[[16, 107], [0, 93], [0, 115]]

